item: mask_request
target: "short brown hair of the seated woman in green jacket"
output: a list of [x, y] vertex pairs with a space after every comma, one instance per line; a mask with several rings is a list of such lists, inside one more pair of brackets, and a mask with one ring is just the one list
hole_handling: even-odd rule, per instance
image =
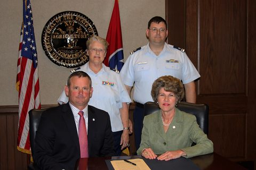
[[159, 90], [164, 88], [165, 91], [173, 92], [179, 103], [184, 97], [184, 88], [180, 79], [174, 78], [171, 75], [164, 75], [156, 79], [152, 85], [151, 96], [155, 103], [159, 95]]

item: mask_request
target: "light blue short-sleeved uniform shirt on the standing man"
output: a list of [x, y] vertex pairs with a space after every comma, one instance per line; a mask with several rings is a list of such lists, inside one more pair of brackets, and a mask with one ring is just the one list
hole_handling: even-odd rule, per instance
[[165, 43], [162, 52], [157, 56], [149, 44], [131, 54], [120, 72], [123, 83], [133, 86], [133, 99], [145, 104], [153, 101], [151, 88], [153, 82], [163, 75], [172, 75], [187, 84], [200, 77], [186, 53]]

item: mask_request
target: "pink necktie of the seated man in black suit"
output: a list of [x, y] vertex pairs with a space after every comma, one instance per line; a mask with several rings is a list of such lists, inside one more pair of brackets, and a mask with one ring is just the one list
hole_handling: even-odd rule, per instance
[[79, 145], [80, 145], [80, 154], [81, 158], [88, 158], [88, 139], [86, 132], [86, 125], [84, 120], [84, 112], [79, 111], [79, 126], [78, 126], [78, 137], [79, 137]]

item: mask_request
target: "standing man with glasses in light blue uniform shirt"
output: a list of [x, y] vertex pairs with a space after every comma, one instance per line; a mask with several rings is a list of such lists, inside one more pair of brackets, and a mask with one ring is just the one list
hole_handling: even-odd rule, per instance
[[151, 86], [159, 77], [172, 75], [182, 81], [186, 101], [196, 103], [195, 80], [200, 77], [184, 49], [165, 43], [168, 36], [166, 21], [155, 16], [148, 22], [146, 35], [149, 43], [131, 52], [120, 72], [126, 90], [137, 102], [133, 113], [135, 144], [138, 149], [141, 141], [143, 104], [153, 101]]

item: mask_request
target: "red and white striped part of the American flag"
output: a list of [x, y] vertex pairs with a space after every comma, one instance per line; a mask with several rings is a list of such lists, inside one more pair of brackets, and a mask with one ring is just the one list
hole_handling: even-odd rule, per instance
[[17, 65], [17, 84], [19, 84], [19, 129], [17, 147], [18, 150], [30, 154], [29, 141], [29, 115], [33, 108], [41, 108], [39, 98], [38, 70], [33, 66], [33, 61], [21, 56], [21, 43], [19, 46], [19, 58]]

